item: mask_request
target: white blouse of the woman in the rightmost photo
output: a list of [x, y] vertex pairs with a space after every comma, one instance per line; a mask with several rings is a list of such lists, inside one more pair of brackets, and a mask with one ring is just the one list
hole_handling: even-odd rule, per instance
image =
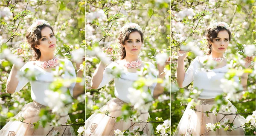
[[[215, 98], [217, 95], [223, 93], [223, 90], [220, 88], [221, 79], [224, 78], [225, 73], [228, 72], [228, 67], [226, 65], [221, 68], [205, 71], [201, 69], [200, 63], [203, 61], [204, 59], [199, 56], [192, 61], [189, 68], [186, 70], [182, 87], [188, 86], [194, 80], [193, 88], [195, 89], [195, 87], [198, 87], [199, 90], [202, 89], [198, 98]], [[235, 76], [234, 79], [236, 82], [239, 82], [239, 78], [237, 76]]]

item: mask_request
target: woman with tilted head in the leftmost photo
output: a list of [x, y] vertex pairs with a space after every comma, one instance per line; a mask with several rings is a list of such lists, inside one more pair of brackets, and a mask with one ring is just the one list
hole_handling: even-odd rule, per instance
[[[47, 98], [46, 91], [49, 90], [49, 84], [53, 82], [53, 69], [59, 66], [60, 63], [64, 64], [64, 79], [76, 79], [76, 71], [73, 67], [71, 61], [67, 59], [60, 59], [54, 55], [57, 43], [55, 34], [52, 27], [45, 20], [38, 20], [33, 23], [26, 33], [26, 39], [29, 43], [31, 49], [34, 51], [32, 61], [28, 61], [21, 69], [18, 68], [15, 64], [12, 66], [12, 70], [7, 79], [6, 89], [7, 92], [13, 94], [20, 91], [26, 83], [30, 82], [31, 84], [31, 97], [34, 100], [32, 103], [27, 103], [24, 105], [22, 110], [14, 117], [15, 119], [19, 117], [24, 117], [23, 122], [20, 121], [9, 121], [1, 130], [0, 133], [2, 136], [24, 136], [24, 135], [52, 135], [52, 134], [64, 134], [64, 135], [74, 135], [74, 129], [70, 126], [67, 128], [65, 126], [52, 127], [46, 125], [43, 128], [41, 125], [37, 129], [34, 128], [33, 124], [37, 122], [40, 117], [39, 113], [41, 108], [45, 108], [48, 103], [45, 101]], [[77, 64], [77, 67], [79, 65]], [[37, 73], [35, 75], [35, 80], [30, 80], [28, 78], [17, 78], [18, 71], [26, 75], [27, 69]], [[71, 73], [71, 74], [69, 74]], [[82, 73], [78, 73], [78, 77], [82, 78]], [[70, 87], [70, 94], [72, 97], [78, 97], [78, 92], [82, 92], [82, 86], [79, 83], [72, 83]], [[62, 88], [63, 92], [67, 91], [67, 88]], [[52, 114], [52, 113], [51, 113]], [[65, 125], [67, 119], [70, 117], [65, 114], [61, 115], [58, 120], [58, 123]], [[66, 128], [66, 129], [65, 129]]]

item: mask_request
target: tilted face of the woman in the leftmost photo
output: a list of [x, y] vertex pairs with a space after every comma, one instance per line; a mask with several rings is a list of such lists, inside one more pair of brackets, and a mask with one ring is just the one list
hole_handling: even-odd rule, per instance
[[56, 49], [56, 38], [52, 30], [48, 27], [45, 27], [41, 30], [41, 39], [39, 39], [40, 45], [35, 47], [41, 51], [41, 53], [50, 53], [54, 52]]

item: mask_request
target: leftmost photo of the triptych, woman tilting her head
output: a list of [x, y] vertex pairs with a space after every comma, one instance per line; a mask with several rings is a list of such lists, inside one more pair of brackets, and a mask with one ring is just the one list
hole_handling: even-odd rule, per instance
[[85, 2], [1, 0], [1, 136], [85, 128]]

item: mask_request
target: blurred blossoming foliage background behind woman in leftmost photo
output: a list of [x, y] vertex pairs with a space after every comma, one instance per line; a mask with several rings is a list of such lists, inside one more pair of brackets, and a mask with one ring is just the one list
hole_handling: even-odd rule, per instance
[[[25, 61], [31, 56], [31, 50], [26, 42], [26, 31], [36, 19], [47, 20], [55, 31], [59, 58], [67, 58], [73, 62], [71, 54], [74, 49], [84, 48], [83, 40], [85, 37], [84, 18], [85, 2], [79, 1], [37, 1], [37, 0], [1, 0], [1, 53], [9, 49], [12, 53], [17, 48], [24, 50]], [[25, 10], [26, 8], [26, 10]], [[11, 38], [12, 37], [12, 38]], [[64, 44], [66, 46], [64, 47]], [[84, 49], [83, 49], [84, 50]], [[1, 58], [1, 128], [15, 116], [26, 103], [32, 102], [30, 96], [30, 83], [23, 90], [15, 94], [6, 92], [6, 80], [12, 68], [13, 62]], [[77, 101], [74, 101], [77, 103]], [[15, 105], [18, 103], [18, 106]], [[78, 103], [73, 111], [81, 111], [78, 114], [70, 114], [71, 121], [75, 119], [84, 119], [84, 102]], [[75, 104], [76, 105], [76, 104]], [[71, 111], [71, 112], [73, 112]], [[77, 133], [79, 126], [73, 128]]]

